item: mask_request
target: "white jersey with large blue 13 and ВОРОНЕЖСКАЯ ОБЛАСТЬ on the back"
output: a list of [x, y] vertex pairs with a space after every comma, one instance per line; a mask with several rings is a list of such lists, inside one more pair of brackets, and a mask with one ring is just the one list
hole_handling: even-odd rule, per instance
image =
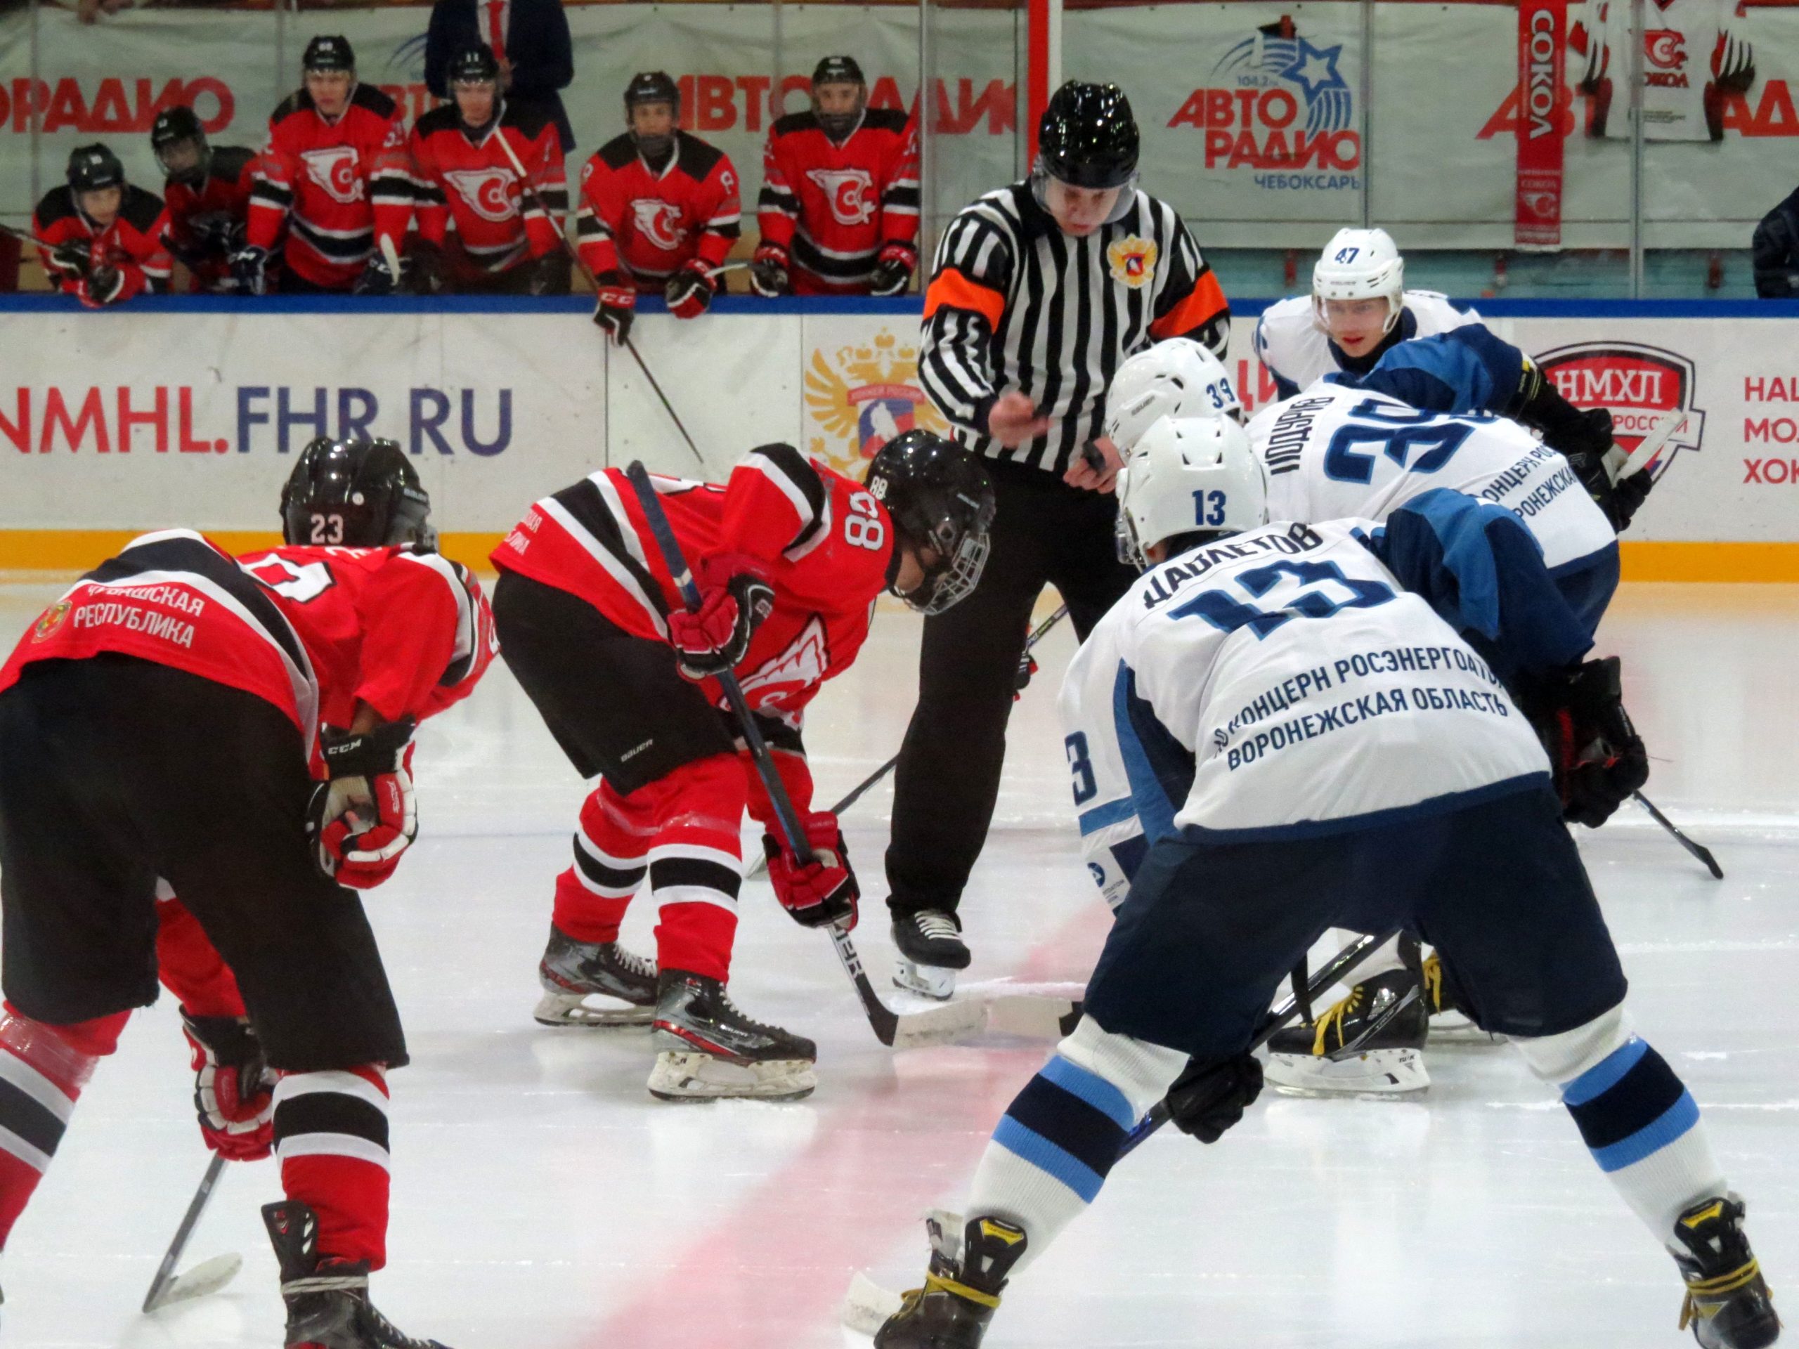
[[1547, 782], [1499, 678], [1364, 541], [1274, 523], [1160, 563], [1061, 685], [1081, 844], [1108, 903], [1175, 829], [1218, 842], [1437, 815]]

